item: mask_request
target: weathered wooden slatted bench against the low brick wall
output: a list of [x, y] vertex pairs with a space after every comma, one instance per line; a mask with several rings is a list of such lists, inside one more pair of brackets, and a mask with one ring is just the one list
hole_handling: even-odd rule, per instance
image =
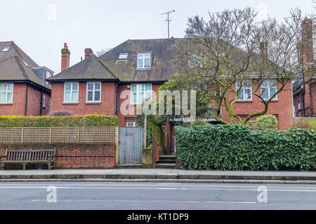
[[55, 167], [55, 153], [56, 149], [27, 149], [27, 150], [10, 150], [6, 149], [4, 161], [0, 163], [21, 163], [23, 169], [27, 163], [45, 162], [48, 169]]

